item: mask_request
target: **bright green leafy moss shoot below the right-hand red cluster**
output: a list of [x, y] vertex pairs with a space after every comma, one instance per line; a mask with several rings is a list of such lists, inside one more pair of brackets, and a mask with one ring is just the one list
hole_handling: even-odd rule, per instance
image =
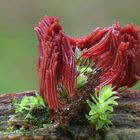
[[99, 93], [95, 92], [95, 95], [91, 95], [92, 101], [87, 100], [90, 111], [86, 118], [90, 123], [95, 124], [96, 130], [109, 127], [112, 124], [109, 117], [113, 112], [113, 106], [118, 105], [115, 101], [118, 96], [114, 96], [115, 94], [117, 92], [113, 91], [111, 85], [107, 85], [101, 88]]

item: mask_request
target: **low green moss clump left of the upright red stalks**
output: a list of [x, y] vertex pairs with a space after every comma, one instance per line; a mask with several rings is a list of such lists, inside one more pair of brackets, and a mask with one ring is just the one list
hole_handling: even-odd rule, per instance
[[14, 99], [12, 104], [18, 117], [31, 120], [38, 127], [50, 123], [49, 109], [38, 93], [35, 96], [24, 96], [21, 100]]

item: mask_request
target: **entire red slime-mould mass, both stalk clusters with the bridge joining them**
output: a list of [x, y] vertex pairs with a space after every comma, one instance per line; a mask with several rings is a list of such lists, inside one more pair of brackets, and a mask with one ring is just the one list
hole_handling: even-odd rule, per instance
[[115, 23], [74, 38], [65, 34], [58, 18], [46, 16], [35, 30], [40, 94], [52, 110], [64, 105], [62, 92], [69, 99], [76, 96], [76, 48], [86, 49], [82, 57], [89, 58], [95, 69], [101, 69], [97, 89], [108, 84], [115, 89], [131, 87], [140, 79], [140, 28], [136, 25], [121, 27]]

